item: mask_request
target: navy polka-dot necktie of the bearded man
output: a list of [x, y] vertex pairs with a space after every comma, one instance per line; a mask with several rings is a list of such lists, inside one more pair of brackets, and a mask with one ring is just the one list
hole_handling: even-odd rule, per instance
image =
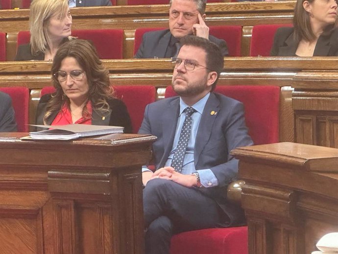
[[175, 171], [179, 173], [181, 173], [182, 171], [184, 155], [186, 154], [190, 138], [190, 132], [192, 128], [192, 115], [194, 112], [196, 112], [196, 110], [194, 110], [192, 107], [186, 107], [183, 112], [186, 113], [186, 119], [184, 120], [176, 151], [174, 153], [174, 156], [172, 157], [170, 165], [175, 169]]

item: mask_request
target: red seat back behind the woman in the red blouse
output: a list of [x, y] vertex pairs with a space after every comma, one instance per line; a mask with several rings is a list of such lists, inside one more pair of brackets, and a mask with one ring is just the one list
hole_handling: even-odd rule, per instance
[[[127, 106], [133, 132], [137, 133], [141, 127], [145, 106], [155, 102], [156, 89], [154, 86], [114, 86], [116, 97], [121, 99]], [[46, 86], [41, 90], [41, 96], [55, 92], [54, 87]]]

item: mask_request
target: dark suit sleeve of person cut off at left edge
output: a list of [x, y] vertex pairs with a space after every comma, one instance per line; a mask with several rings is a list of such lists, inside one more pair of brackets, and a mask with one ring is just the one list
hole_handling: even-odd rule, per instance
[[0, 132], [17, 131], [12, 99], [8, 94], [0, 92]]

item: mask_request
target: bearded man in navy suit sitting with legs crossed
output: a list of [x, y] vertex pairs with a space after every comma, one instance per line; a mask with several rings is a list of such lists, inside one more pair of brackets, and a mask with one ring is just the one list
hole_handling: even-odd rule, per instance
[[212, 92], [223, 69], [216, 44], [186, 36], [181, 45], [172, 59], [179, 96], [149, 104], [139, 130], [157, 136], [156, 171], [142, 169], [146, 254], [169, 254], [174, 233], [243, 221], [241, 208], [224, 197], [238, 173], [230, 151], [253, 144], [243, 105]]

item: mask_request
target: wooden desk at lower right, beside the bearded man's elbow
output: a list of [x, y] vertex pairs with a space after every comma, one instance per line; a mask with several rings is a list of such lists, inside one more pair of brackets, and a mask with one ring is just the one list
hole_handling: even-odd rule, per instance
[[238, 148], [250, 254], [309, 254], [338, 230], [338, 150], [295, 143]]

